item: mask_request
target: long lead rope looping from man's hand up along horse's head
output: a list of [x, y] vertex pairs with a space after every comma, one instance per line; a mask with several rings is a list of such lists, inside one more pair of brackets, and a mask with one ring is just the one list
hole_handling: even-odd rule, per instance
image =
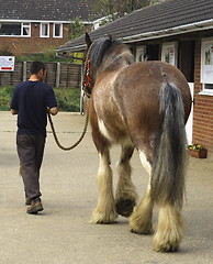
[[[89, 94], [87, 87], [85, 87], [85, 82], [86, 82], [86, 76], [87, 76], [87, 66], [88, 66], [88, 62], [89, 62], [89, 55], [90, 55], [90, 51], [91, 51], [91, 47], [92, 47], [93, 43], [90, 45], [90, 47], [88, 50], [87, 57], [86, 57], [86, 64], [85, 64], [85, 68], [83, 68], [83, 91], [85, 91], [85, 95], [87, 96], [88, 99], [90, 99], [90, 94]], [[51, 124], [52, 132], [53, 132], [53, 135], [54, 135], [56, 144], [63, 151], [70, 151], [70, 150], [75, 148], [82, 141], [82, 139], [85, 138], [85, 134], [87, 132], [88, 121], [89, 121], [89, 100], [87, 101], [87, 110], [86, 110], [86, 120], [85, 120], [83, 131], [82, 131], [81, 136], [79, 138], [79, 140], [75, 144], [72, 144], [71, 146], [66, 147], [66, 146], [63, 146], [60, 144], [60, 142], [58, 141], [58, 138], [57, 138], [54, 124], [53, 124], [53, 120], [52, 120], [51, 113], [47, 112], [47, 116], [48, 116], [48, 121], [49, 121], [49, 124]]]

